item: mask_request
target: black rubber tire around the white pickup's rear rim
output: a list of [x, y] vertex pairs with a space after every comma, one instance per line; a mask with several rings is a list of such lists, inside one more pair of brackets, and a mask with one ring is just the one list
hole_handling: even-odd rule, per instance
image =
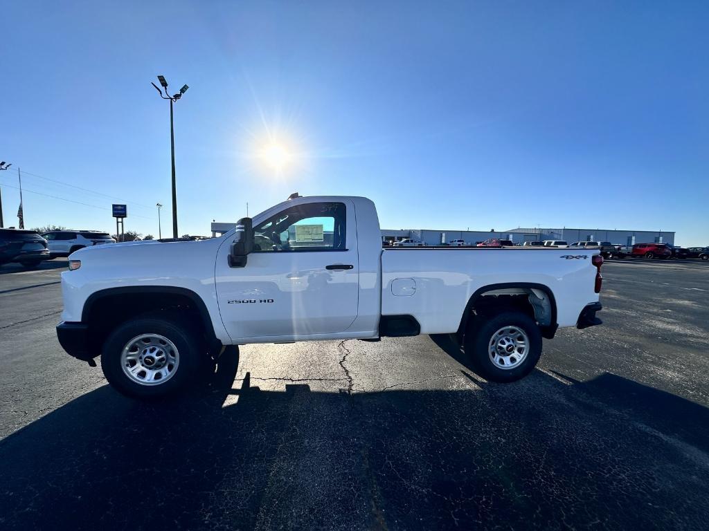
[[[496, 365], [489, 353], [493, 338], [497, 336], [498, 331], [506, 327], [522, 330], [528, 341], [525, 358], [509, 369]], [[504, 338], [504, 336], [498, 337]], [[539, 326], [534, 319], [522, 312], [504, 312], [491, 319], [470, 319], [463, 343], [465, 357], [470, 362], [471, 368], [489, 382], [515, 382], [527, 376], [542, 355], [542, 333]], [[513, 355], [508, 355], [508, 360], [512, 358]]]

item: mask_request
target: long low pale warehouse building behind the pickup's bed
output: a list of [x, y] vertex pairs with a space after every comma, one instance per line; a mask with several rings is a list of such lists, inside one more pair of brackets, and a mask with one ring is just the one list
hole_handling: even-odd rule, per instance
[[532, 228], [509, 229], [506, 231], [456, 231], [456, 230], [429, 230], [429, 229], [382, 229], [383, 241], [398, 241], [412, 238], [423, 241], [426, 245], [440, 245], [452, 240], [462, 239], [467, 244], [475, 245], [480, 241], [490, 238], [508, 239], [515, 244], [524, 241], [564, 240], [571, 244], [574, 241], [610, 241], [611, 244], [670, 244], [674, 245], [674, 232], [668, 231], [624, 231], [615, 229], [561, 229]]

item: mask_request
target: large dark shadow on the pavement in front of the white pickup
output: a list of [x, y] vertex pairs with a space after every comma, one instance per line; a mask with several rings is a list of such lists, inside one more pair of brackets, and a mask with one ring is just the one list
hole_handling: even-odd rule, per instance
[[108, 386], [0, 442], [0, 528], [692, 529], [709, 413], [604, 374], [468, 391], [208, 389], [145, 404]]

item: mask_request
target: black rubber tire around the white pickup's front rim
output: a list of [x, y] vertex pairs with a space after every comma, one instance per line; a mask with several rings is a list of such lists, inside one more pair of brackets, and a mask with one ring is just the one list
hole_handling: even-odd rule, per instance
[[[179, 362], [177, 367], [174, 367], [174, 373], [171, 372], [169, 377], [165, 377], [164, 382], [136, 382], [123, 371], [123, 349], [135, 338], [145, 334], [167, 338], [177, 349]], [[165, 348], [172, 351], [169, 345]], [[137, 353], [140, 353], [140, 350]], [[188, 388], [190, 384], [199, 382], [203, 379], [204, 364], [207, 361], [207, 349], [199, 331], [178, 314], [169, 313], [145, 314], [118, 325], [106, 338], [101, 352], [101, 369], [108, 383], [121, 394], [139, 399], [174, 394]]]

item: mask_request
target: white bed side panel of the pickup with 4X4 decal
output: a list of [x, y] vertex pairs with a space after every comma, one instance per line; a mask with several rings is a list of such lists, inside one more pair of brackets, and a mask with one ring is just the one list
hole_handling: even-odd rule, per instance
[[555, 319], [559, 326], [574, 326], [586, 304], [598, 299], [591, 263], [595, 254], [597, 250], [556, 247], [384, 249], [381, 314], [411, 315], [421, 324], [421, 333], [452, 333], [476, 291], [516, 286], [543, 288], [552, 300], [564, 301]]

